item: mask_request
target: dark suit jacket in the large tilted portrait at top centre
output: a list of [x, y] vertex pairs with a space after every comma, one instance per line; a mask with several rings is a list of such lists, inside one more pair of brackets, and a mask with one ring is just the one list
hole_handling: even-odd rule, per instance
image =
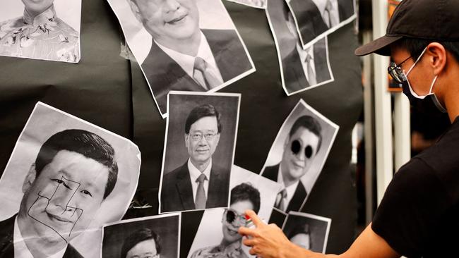
[[[201, 30], [213, 53], [217, 68], [223, 81], [245, 73], [252, 68], [242, 42], [235, 30]], [[203, 92], [198, 85], [169, 55], [153, 41], [150, 53], [143, 61], [143, 73], [150, 83], [151, 90], [161, 113], [166, 113], [167, 93], [171, 90]]]

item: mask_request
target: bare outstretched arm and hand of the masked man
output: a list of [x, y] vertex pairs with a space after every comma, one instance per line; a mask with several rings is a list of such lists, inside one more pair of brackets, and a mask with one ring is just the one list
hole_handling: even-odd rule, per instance
[[254, 211], [246, 211], [246, 214], [254, 222], [256, 228], [239, 228], [239, 234], [248, 238], [244, 239], [244, 245], [252, 247], [249, 251], [252, 255], [263, 258], [398, 258], [400, 254], [395, 252], [386, 240], [374, 233], [371, 224], [365, 228], [362, 234], [354, 241], [349, 250], [340, 255], [319, 254], [305, 250], [294, 245], [282, 233], [275, 224], [266, 225], [256, 216]]

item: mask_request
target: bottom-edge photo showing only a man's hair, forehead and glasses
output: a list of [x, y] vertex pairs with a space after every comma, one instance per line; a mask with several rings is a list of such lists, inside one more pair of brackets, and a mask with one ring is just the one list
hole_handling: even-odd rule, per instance
[[128, 219], [103, 226], [102, 258], [178, 258], [181, 214]]

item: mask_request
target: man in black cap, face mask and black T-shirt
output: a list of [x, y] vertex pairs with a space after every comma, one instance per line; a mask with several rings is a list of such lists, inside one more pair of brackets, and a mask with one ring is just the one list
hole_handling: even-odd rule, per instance
[[388, 68], [408, 99], [448, 112], [451, 128], [395, 174], [373, 222], [341, 255], [315, 254], [289, 242], [280, 228], [246, 213], [257, 228], [240, 228], [250, 253], [269, 257], [457, 257], [459, 253], [459, 1], [403, 0], [386, 35], [358, 56], [391, 56]]

